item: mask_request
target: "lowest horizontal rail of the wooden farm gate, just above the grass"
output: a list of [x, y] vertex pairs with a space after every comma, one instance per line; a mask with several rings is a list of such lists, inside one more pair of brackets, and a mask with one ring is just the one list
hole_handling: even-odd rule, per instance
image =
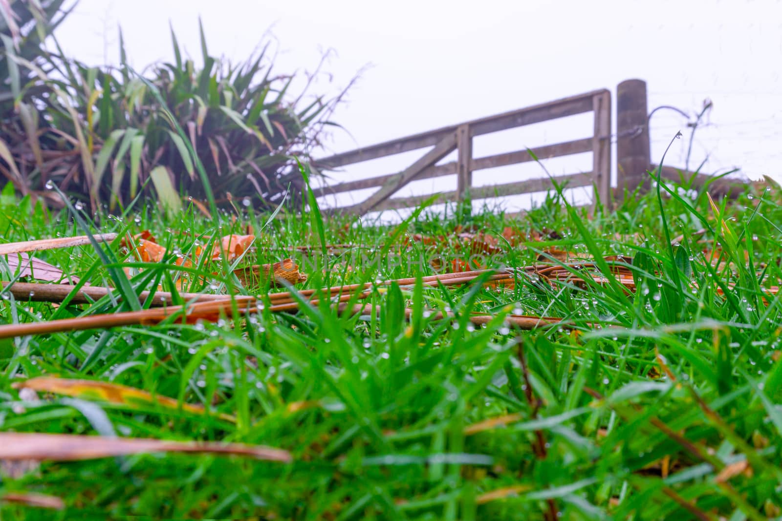
[[[566, 176], [554, 177], [554, 181], [557, 184], [567, 183], [567, 188], [577, 188], [590, 186], [593, 183], [593, 176], [591, 172], [587, 173], [572, 173]], [[554, 183], [548, 177], [540, 177], [538, 179], [529, 179], [523, 181], [516, 181], [515, 183], [495, 184], [486, 187], [472, 187], [470, 189], [470, 197], [475, 199], [486, 199], [493, 197], [504, 197], [505, 195], [517, 195], [517, 194], [531, 194], [540, 191], [549, 191], [554, 188]], [[457, 200], [457, 191], [441, 192], [436, 203], [440, 202], [453, 202]], [[432, 194], [426, 195], [413, 195], [405, 198], [393, 198], [386, 199], [385, 202], [377, 205], [375, 210], [393, 210], [401, 208], [412, 208], [420, 205], [426, 199], [432, 197]]]

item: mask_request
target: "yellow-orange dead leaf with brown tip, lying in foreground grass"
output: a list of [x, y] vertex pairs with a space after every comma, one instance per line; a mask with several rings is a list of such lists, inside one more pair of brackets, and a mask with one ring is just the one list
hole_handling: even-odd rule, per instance
[[[109, 384], [97, 380], [77, 380], [56, 378], [55, 376], [38, 376], [12, 385], [14, 389], [32, 389], [39, 392], [65, 394], [76, 398], [98, 398], [111, 403], [135, 405], [141, 402], [145, 405], [162, 405], [168, 409], [179, 409], [179, 401], [160, 394], [152, 395], [135, 387]], [[195, 414], [206, 414], [199, 405], [183, 403], [181, 408]], [[236, 419], [228, 414], [218, 414], [220, 419], [235, 423]]]

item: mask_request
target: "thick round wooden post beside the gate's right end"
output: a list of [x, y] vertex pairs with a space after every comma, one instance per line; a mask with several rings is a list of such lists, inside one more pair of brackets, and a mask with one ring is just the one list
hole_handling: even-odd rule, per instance
[[644, 80], [625, 80], [616, 87], [617, 200], [647, 179], [651, 167], [649, 120]]

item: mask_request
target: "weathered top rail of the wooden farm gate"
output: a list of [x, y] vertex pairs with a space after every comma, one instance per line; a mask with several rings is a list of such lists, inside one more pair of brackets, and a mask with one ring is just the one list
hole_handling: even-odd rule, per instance
[[[511, 112], [504, 112], [494, 116], [487, 116], [478, 120], [472, 120], [465, 123], [470, 127], [473, 136], [497, 132], [497, 130], [506, 130], [514, 127], [522, 127], [532, 123], [539, 123], [546, 120], [554, 120], [565, 116], [572, 116], [582, 112], [592, 110], [592, 98], [595, 95], [608, 92], [605, 89], [599, 91], [585, 92], [584, 94], [561, 98], [553, 102], [541, 103], [524, 109], [517, 109]], [[450, 125], [448, 127], [421, 132], [411, 136], [384, 141], [377, 145], [351, 150], [335, 154], [326, 158], [317, 159], [314, 165], [321, 169], [333, 169], [338, 166], [350, 165], [356, 162], [377, 159], [386, 155], [400, 154], [435, 145], [442, 141], [448, 134], [453, 134], [459, 125]]]

